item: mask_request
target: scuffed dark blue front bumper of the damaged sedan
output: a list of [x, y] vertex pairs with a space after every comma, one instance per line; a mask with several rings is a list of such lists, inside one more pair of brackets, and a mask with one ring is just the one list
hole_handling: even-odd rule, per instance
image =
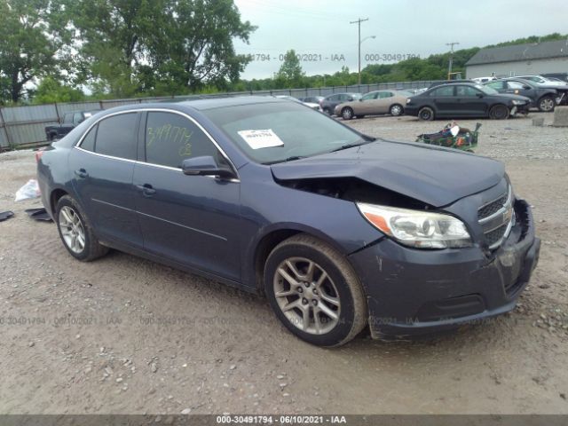
[[515, 210], [517, 224], [493, 252], [420, 250], [383, 239], [352, 254], [367, 294], [371, 335], [409, 338], [514, 309], [540, 254], [530, 207], [517, 200]]

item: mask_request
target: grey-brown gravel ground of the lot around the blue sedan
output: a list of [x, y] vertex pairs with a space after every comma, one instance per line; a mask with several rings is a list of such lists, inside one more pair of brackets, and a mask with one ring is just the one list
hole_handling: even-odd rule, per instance
[[[540, 264], [514, 312], [417, 342], [323, 350], [259, 297], [120, 252], [84, 264], [13, 202], [30, 151], [0, 154], [0, 413], [568, 413], [568, 131], [483, 121], [478, 154], [533, 204]], [[375, 117], [414, 140], [445, 122]], [[473, 127], [475, 122], [461, 125]]]

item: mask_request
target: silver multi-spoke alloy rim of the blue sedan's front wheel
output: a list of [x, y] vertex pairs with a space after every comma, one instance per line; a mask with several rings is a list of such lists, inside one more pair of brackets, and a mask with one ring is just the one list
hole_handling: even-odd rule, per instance
[[273, 287], [280, 311], [305, 333], [323, 335], [337, 325], [339, 292], [319, 264], [305, 257], [289, 257], [276, 269]]

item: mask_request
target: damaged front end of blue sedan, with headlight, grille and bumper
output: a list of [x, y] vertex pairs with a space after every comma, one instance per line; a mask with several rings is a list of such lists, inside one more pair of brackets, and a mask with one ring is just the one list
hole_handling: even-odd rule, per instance
[[274, 178], [352, 201], [361, 220], [383, 233], [348, 255], [367, 294], [374, 338], [408, 339], [509, 312], [538, 263], [530, 206], [515, 197], [504, 173], [496, 184], [446, 204], [378, 185], [379, 175], [368, 182], [277, 171]]

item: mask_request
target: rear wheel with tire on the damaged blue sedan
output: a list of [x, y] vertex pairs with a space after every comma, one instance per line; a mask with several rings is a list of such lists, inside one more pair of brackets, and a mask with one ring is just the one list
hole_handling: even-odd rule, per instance
[[69, 195], [61, 197], [55, 211], [59, 238], [71, 256], [90, 262], [106, 255], [108, 248], [99, 243], [92, 231], [91, 222], [73, 198]]

